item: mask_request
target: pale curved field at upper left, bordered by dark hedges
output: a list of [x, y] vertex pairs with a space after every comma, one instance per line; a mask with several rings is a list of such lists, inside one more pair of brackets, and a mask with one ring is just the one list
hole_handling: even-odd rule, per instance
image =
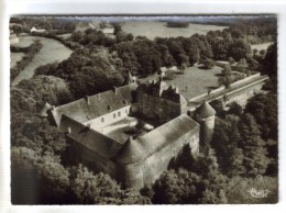
[[[41, 40], [43, 47], [34, 56], [33, 60], [25, 67], [25, 69], [22, 70], [19, 74], [19, 76], [12, 81], [13, 86], [19, 83], [23, 79], [32, 78], [34, 75], [34, 70], [37, 67], [53, 61], [62, 61], [68, 58], [72, 54], [72, 51], [69, 48], [67, 48], [62, 43], [55, 40], [38, 36], [30, 36], [30, 40], [33, 38]], [[11, 60], [14, 60], [14, 58], [12, 57], [13, 55], [11, 55]]]

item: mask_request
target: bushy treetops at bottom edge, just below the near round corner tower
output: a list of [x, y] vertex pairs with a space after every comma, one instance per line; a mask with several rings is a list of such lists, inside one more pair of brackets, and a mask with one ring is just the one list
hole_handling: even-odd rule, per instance
[[151, 204], [150, 198], [134, 189], [122, 190], [107, 173], [94, 175], [79, 165], [70, 169], [70, 184], [80, 204]]

